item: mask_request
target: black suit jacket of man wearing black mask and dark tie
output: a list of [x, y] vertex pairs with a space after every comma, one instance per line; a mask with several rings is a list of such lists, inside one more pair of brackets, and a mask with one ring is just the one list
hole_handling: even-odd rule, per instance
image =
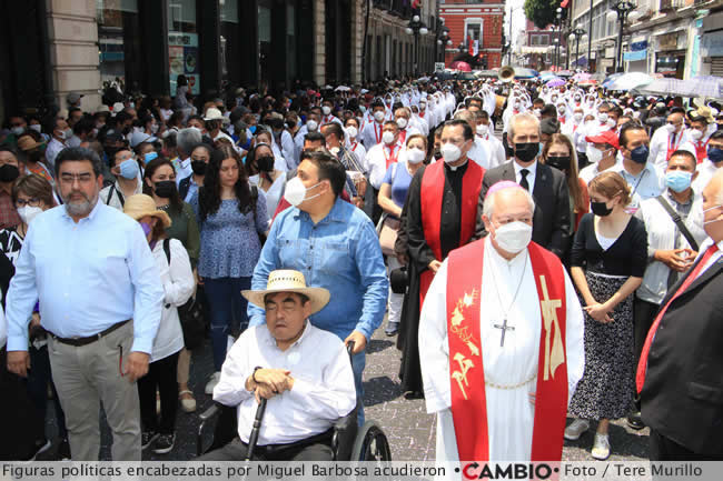
[[[479, 191], [477, 212], [482, 212], [485, 197], [492, 186], [501, 180], [516, 181], [514, 160], [497, 166], [485, 172]], [[535, 171], [535, 188], [532, 193], [535, 199], [535, 214], [532, 224], [532, 240], [562, 258], [570, 248], [570, 192], [565, 174], [544, 163], [537, 162]], [[487, 236], [487, 230], [477, 218], [475, 238]]]

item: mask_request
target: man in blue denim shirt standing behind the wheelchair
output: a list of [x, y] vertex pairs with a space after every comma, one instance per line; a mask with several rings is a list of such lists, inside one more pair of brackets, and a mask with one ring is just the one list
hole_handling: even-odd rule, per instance
[[[279, 213], [254, 270], [251, 289], [264, 289], [269, 273], [294, 269], [309, 285], [327, 289], [329, 303], [309, 319], [345, 343], [355, 342], [351, 367], [361, 399], [365, 348], [386, 311], [389, 283], [382, 248], [369, 218], [339, 198], [346, 172], [329, 153], [301, 154], [298, 174], [286, 184], [291, 206]], [[264, 310], [248, 307], [249, 324], [266, 323]], [[364, 412], [359, 412], [359, 425]]]

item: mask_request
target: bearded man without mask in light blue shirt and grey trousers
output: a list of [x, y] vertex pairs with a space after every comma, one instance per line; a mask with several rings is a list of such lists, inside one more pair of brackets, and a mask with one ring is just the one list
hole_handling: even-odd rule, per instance
[[8, 291], [8, 370], [27, 375], [28, 323], [39, 301], [73, 461], [98, 460], [100, 402], [112, 459], [140, 461], [136, 380], [148, 372], [164, 287], [140, 224], [98, 202], [98, 156], [63, 150], [56, 179], [63, 206], [30, 224]]

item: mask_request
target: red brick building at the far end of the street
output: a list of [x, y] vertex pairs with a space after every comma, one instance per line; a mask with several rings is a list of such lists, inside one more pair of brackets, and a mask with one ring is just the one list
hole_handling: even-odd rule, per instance
[[485, 61], [487, 69], [502, 67], [504, 14], [505, 6], [497, 0], [440, 1], [439, 18], [444, 19], [445, 26], [449, 29], [452, 42], [446, 46], [445, 63], [448, 66], [460, 53], [474, 53], [476, 42], [477, 56], [474, 59], [476, 64], [473, 64], [473, 68], [485, 68]]

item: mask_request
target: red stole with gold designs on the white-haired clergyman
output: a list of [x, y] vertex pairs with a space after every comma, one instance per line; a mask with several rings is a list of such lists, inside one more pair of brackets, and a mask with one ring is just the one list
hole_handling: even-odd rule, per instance
[[[485, 241], [479, 240], [455, 249], [447, 261], [452, 417], [460, 461], [489, 460], [485, 370], [479, 339], [484, 247]], [[532, 461], [559, 461], [567, 413], [565, 275], [555, 254], [534, 242], [529, 243], [528, 250], [542, 318]]]

